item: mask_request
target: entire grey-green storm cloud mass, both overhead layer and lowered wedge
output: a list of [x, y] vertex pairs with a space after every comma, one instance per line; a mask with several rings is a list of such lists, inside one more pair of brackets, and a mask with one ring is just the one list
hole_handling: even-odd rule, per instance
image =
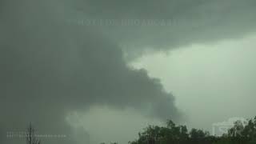
[[[6, 132], [33, 122], [42, 134], [68, 136], [45, 143], [88, 143], [86, 130], [74, 133], [66, 117], [91, 106], [186, 121], [160, 80], [126, 60], [147, 51], [242, 38], [255, 29], [255, 6], [254, 0], [1, 0], [0, 142], [20, 141], [6, 138]], [[95, 19], [103, 22], [84, 23]], [[127, 26], [121, 19], [169, 24]]]

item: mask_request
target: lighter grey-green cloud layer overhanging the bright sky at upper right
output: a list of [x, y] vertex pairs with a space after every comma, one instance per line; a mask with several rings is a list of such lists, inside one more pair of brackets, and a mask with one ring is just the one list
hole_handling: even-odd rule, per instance
[[255, 31], [254, 0], [78, 2], [74, 7], [84, 15], [80, 20], [101, 27], [131, 57], [149, 49], [170, 50], [191, 43], [242, 38]]

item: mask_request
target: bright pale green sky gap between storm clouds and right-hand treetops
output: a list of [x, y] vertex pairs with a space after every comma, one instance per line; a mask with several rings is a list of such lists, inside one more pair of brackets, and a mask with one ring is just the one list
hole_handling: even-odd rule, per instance
[[186, 125], [212, 132], [216, 122], [252, 118], [256, 106], [256, 37], [191, 45], [144, 55], [131, 65], [160, 78], [175, 95]]

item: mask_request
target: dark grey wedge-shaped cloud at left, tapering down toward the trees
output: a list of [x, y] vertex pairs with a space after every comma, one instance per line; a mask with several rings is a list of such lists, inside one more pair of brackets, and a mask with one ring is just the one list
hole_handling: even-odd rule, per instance
[[[134, 107], [150, 116], [180, 118], [172, 94], [146, 70], [126, 66], [118, 44], [98, 30], [66, 23], [56, 1], [3, 2], [1, 14], [1, 141], [33, 122], [44, 142], [74, 143], [66, 114], [90, 106]], [[68, 14], [67, 14], [68, 15]], [[18, 139], [20, 140], [20, 139]]]

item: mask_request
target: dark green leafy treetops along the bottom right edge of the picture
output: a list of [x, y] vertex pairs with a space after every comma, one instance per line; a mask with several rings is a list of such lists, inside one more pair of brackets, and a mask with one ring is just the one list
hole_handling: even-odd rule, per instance
[[166, 126], [148, 126], [138, 139], [130, 144], [256, 144], [256, 117], [244, 125], [241, 121], [222, 136], [210, 135], [209, 132], [176, 126], [168, 120]]

